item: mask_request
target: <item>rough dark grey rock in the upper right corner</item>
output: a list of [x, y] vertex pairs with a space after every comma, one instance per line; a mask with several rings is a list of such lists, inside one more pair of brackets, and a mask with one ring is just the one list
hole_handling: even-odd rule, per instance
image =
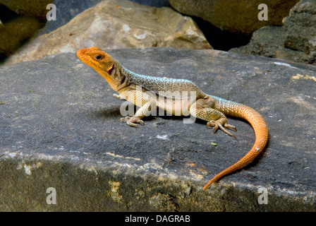
[[249, 44], [230, 51], [316, 64], [315, 24], [316, 1], [302, 0], [284, 18], [283, 26], [256, 30]]

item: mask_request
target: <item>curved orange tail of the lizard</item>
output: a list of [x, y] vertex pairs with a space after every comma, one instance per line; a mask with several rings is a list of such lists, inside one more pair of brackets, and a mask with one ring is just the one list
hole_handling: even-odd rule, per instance
[[263, 148], [265, 148], [268, 140], [267, 124], [265, 123], [265, 119], [263, 119], [261, 114], [246, 105], [241, 105], [239, 103], [231, 102], [229, 100], [224, 100], [218, 97], [216, 97], [215, 100], [215, 109], [223, 112], [225, 115], [239, 117], [249, 121], [255, 131], [255, 144], [253, 145], [253, 148], [251, 148], [251, 150], [241, 160], [231, 165], [227, 169], [224, 169], [224, 171], [213, 177], [203, 187], [204, 190], [206, 190], [213, 182], [216, 182], [221, 177], [224, 177], [226, 174], [229, 174], [254, 160], [255, 157], [257, 157], [257, 155], [262, 152]]

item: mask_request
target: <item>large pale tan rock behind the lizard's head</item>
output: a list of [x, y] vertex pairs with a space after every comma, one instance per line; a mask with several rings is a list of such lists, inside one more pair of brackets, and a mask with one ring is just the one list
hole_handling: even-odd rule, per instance
[[6, 63], [40, 59], [59, 52], [77, 52], [92, 46], [102, 49], [212, 48], [191, 18], [171, 8], [104, 0], [54, 32], [35, 38]]

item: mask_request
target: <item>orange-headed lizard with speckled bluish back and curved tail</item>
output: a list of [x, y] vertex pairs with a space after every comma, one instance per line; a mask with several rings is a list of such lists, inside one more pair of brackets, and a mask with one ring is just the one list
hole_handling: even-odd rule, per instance
[[[208, 95], [202, 92], [195, 83], [186, 79], [160, 78], [134, 73], [98, 47], [79, 49], [77, 57], [85, 64], [91, 66], [92, 69], [95, 69], [97, 73], [105, 78], [111, 88], [119, 93], [114, 94], [114, 97], [127, 100], [133, 103], [133, 105], [140, 107], [133, 117], [120, 119], [120, 121], [125, 121], [129, 126], [138, 127], [138, 124], [144, 125], [145, 123], [142, 119], [154, 108], [158, 109], [160, 107], [165, 112], [175, 114], [177, 110], [175, 108], [179, 102], [186, 104], [186, 107], [183, 107], [178, 114], [190, 114], [195, 118], [207, 121], [207, 129], [209, 126], [212, 126], [214, 133], [218, 129], [221, 129], [224, 133], [235, 138], [233, 133], [228, 130], [237, 131], [236, 127], [228, 124], [226, 116], [245, 119], [253, 126], [255, 132], [253, 148], [241, 160], [238, 160], [238, 162], [210, 179], [203, 187], [204, 190], [226, 174], [230, 174], [248, 165], [257, 155], [262, 153], [267, 144], [268, 129], [265, 119], [255, 109], [247, 105]], [[141, 88], [137, 88], [138, 86]], [[166, 94], [166, 91], [171, 91], [171, 93], [175, 91], [187, 92], [190, 95], [186, 95], [185, 97], [170, 97]], [[194, 93], [194, 95], [191, 95], [191, 93]], [[169, 98], [171, 102], [166, 104], [166, 98]]]

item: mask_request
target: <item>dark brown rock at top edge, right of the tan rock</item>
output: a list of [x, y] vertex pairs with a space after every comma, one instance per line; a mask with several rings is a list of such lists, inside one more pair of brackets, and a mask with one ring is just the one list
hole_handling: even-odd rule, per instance
[[[188, 16], [198, 16], [221, 30], [251, 35], [267, 25], [281, 25], [282, 19], [298, 0], [169, 0], [176, 11]], [[268, 20], [258, 20], [260, 4], [268, 6]]]

